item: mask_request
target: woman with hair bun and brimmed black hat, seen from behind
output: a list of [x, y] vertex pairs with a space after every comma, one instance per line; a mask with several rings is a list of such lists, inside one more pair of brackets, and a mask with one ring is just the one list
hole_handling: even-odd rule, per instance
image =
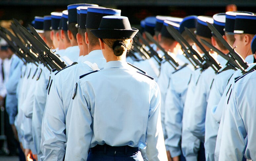
[[107, 63], [76, 83], [65, 160], [167, 161], [159, 87], [126, 62], [138, 29], [128, 17], [104, 16], [91, 32]]

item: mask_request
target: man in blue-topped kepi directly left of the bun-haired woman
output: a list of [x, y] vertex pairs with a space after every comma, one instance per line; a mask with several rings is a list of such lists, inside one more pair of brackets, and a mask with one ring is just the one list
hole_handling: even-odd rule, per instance
[[80, 24], [86, 25], [85, 42], [88, 44], [89, 54], [84, 56], [82, 63], [74, 64], [56, 73], [54, 80], [50, 83], [49, 97], [42, 123], [41, 150], [44, 156], [41, 157], [41, 160], [53, 158], [54, 160], [63, 160], [64, 158], [73, 102], [70, 93], [76, 88], [74, 84], [79, 80], [79, 76], [86, 72], [102, 69], [106, 63], [100, 50], [98, 38], [90, 30], [97, 29], [101, 17], [108, 15], [120, 16], [121, 10], [88, 7], [86, 22], [80, 22]]

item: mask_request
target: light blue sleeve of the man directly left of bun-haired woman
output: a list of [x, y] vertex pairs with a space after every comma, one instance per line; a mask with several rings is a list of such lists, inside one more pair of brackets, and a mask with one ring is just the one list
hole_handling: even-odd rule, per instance
[[41, 151], [45, 160], [63, 160], [65, 155], [67, 138], [60, 87], [61, 83], [54, 79], [45, 106], [41, 138]]

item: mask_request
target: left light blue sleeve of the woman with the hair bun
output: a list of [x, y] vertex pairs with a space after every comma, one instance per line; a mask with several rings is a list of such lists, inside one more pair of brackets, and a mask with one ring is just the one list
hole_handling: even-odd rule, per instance
[[72, 107], [65, 160], [87, 160], [93, 134], [91, 104], [80, 83]]

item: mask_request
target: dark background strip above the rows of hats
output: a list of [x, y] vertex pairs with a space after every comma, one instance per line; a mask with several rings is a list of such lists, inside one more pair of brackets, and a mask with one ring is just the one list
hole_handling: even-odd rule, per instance
[[74, 3], [94, 3], [121, 9], [121, 15], [128, 16], [130, 23], [135, 26], [147, 16], [213, 16], [226, 12], [226, 6], [229, 4], [235, 4], [238, 11], [256, 13], [255, 0], [0, 0], [0, 20], [16, 18], [27, 25], [34, 16], [63, 11], [68, 4]]

